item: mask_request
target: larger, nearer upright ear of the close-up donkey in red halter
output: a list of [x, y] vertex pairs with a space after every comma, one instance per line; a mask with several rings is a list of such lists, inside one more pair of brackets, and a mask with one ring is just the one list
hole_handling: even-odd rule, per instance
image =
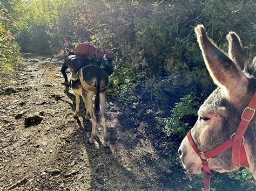
[[248, 79], [242, 70], [212, 43], [207, 37], [203, 25], [196, 26], [195, 32], [205, 65], [214, 83], [218, 87], [226, 89], [229, 96], [238, 96], [239, 92], [244, 93], [245, 88], [247, 89]]

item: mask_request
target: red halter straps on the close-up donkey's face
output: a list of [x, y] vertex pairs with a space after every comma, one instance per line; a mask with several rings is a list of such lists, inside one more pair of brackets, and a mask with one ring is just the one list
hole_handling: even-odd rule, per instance
[[244, 143], [245, 143], [244, 134], [254, 117], [255, 109], [256, 109], [256, 92], [252, 96], [251, 101], [248, 104], [248, 107], [246, 107], [242, 112], [241, 121], [238, 125], [237, 131], [235, 131], [235, 133], [233, 133], [230, 139], [226, 140], [226, 142], [220, 144], [215, 148], [212, 148], [212, 150], [207, 151], [205, 153], [201, 152], [198, 149], [197, 145], [194, 143], [194, 140], [191, 136], [190, 131], [187, 133], [188, 141], [190, 142], [192, 148], [194, 149], [194, 151], [196, 151], [196, 153], [199, 155], [202, 161], [202, 166], [204, 169], [204, 190], [210, 190], [211, 176], [216, 173], [215, 171], [211, 171], [210, 168], [208, 167], [208, 159], [217, 156], [218, 154], [226, 151], [228, 148], [233, 147], [232, 148], [233, 165], [238, 167], [241, 167], [241, 166], [249, 167], [246, 159], [245, 149], [244, 149]]

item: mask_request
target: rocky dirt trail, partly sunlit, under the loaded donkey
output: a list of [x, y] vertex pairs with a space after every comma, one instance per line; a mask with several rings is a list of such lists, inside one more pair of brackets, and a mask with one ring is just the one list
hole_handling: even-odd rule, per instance
[[[107, 99], [110, 148], [102, 145], [101, 125], [95, 144], [87, 144], [91, 122], [84, 119], [83, 101], [79, 118], [73, 118], [75, 95], [60, 84], [61, 62], [49, 65], [41, 80], [44, 86], [37, 82], [48, 62], [45, 57], [29, 58], [0, 85], [0, 189], [187, 187], [190, 181], [177, 160], [177, 146], [163, 154], [157, 138], [132, 124], [116, 98]], [[26, 127], [30, 115], [43, 120]]]

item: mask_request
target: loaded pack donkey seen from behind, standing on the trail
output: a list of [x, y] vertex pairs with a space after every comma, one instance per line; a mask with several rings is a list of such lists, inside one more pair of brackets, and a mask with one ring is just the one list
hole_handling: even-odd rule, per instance
[[[102, 123], [104, 128], [104, 146], [109, 147], [106, 129], [106, 90], [109, 86], [107, 73], [97, 65], [88, 65], [81, 61], [79, 56], [72, 55], [73, 52], [67, 50], [65, 61], [71, 70], [71, 88], [76, 95], [76, 111], [74, 117], [78, 117], [80, 95], [86, 107], [86, 119], [92, 118], [92, 133], [89, 139], [90, 144], [96, 137], [96, 126], [99, 118], [99, 109], [102, 111]], [[78, 74], [78, 75], [77, 75]], [[92, 104], [92, 97], [95, 97], [95, 107]]]

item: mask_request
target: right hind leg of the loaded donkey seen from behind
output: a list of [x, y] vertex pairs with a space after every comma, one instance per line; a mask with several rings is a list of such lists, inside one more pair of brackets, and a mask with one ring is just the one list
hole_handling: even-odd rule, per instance
[[100, 108], [102, 110], [102, 123], [104, 128], [104, 146], [109, 147], [109, 136], [107, 135], [107, 128], [106, 128], [106, 93], [99, 94], [100, 100]]

